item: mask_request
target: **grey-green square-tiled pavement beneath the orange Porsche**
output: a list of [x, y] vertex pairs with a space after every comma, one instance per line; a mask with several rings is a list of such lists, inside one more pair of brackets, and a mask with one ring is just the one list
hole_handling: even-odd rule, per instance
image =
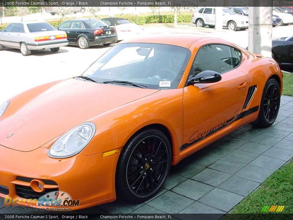
[[[225, 214], [293, 157], [293, 97], [282, 96], [276, 122], [246, 125], [171, 167], [163, 188], [145, 203], [114, 201], [73, 213]], [[13, 212], [0, 199], [0, 214]]]

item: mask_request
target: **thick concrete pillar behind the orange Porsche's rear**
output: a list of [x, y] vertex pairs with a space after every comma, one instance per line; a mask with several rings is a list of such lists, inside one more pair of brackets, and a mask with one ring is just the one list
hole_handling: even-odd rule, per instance
[[[261, 4], [257, 0], [252, 1], [253, 5]], [[272, 7], [249, 7], [248, 10], [248, 50], [272, 57]]]

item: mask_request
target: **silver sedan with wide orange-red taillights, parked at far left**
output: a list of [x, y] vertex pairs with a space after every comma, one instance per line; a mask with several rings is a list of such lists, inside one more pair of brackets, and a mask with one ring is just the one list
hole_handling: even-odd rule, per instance
[[18, 22], [9, 24], [0, 32], [0, 50], [4, 47], [20, 49], [22, 55], [31, 55], [31, 50], [50, 49], [57, 52], [67, 46], [65, 31], [58, 31], [47, 22]]

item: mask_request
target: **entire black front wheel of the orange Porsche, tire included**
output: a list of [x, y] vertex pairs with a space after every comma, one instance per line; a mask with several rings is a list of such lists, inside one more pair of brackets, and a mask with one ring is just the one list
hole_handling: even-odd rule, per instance
[[123, 148], [116, 169], [116, 193], [132, 202], [143, 202], [161, 188], [171, 166], [171, 146], [160, 130], [147, 129]]

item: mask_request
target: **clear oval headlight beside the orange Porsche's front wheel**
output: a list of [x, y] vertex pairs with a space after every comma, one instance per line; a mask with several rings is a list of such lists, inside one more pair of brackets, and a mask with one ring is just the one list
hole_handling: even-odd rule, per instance
[[48, 155], [54, 158], [74, 156], [89, 144], [95, 132], [96, 125], [94, 123], [82, 123], [58, 138], [50, 147]]

